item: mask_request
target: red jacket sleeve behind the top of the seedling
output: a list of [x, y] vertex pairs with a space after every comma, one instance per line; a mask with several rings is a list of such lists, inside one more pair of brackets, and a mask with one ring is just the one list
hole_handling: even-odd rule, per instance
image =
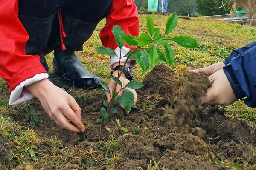
[[[139, 17], [134, 0], [113, 0], [110, 14], [106, 17], [106, 20], [106, 26], [99, 34], [102, 45], [105, 47], [113, 50], [118, 47], [112, 33], [112, 28], [115, 25], [120, 26], [125, 34], [139, 35]], [[131, 50], [134, 49], [134, 47], [129, 47], [127, 44], [125, 46]]]

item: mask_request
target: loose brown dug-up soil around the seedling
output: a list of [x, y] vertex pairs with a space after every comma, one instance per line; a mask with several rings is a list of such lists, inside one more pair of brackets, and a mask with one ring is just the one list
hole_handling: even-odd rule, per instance
[[[82, 101], [77, 99], [86, 125], [84, 133], [62, 130], [36, 100], [32, 101], [30, 105], [42, 113], [39, 126], [33, 127], [43, 141], [37, 151], [50, 157], [53, 146], [49, 140], [62, 139], [61, 144], [54, 146], [67, 169], [79, 169], [84, 164], [81, 169], [135, 170], [141, 167], [146, 170], [151, 161], [154, 165], [153, 160], [159, 163], [158, 167], [172, 170], [218, 170], [221, 167], [215, 164], [217, 160], [236, 162], [243, 158], [250, 158], [248, 163], [255, 164], [255, 134], [247, 123], [228, 118], [221, 107], [199, 105], [200, 96], [210, 87], [207, 76], [188, 72], [175, 75], [166, 65], [158, 65], [146, 75], [143, 85], [137, 90], [137, 107], [129, 114], [118, 107], [118, 114], [111, 115], [108, 124], [96, 122], [102, 118], [100, 108], [105, 94], [95, 91]], [[155, 108], [147, 107], [151, 105]], [[32, 128], [22, 115], [13, 116], [23, 121], [25, 127]], [[118, 128], [116, 119], [128, 129], [127, 133]], [[113, 141], [118, 140], [116, 146], [109, 142], [112, 137], [106, 126], [113, 131]], [[12, 169], [14, 165], [6, 152], [12, 144], [6, 143], [0, 136], [0, 162]], [[106, 155], [108, 149], [112, 155]], [[113, 162], [97, 162], [104, 157]], [[49, 164], [36, 163], [35, 166], [41, 170], [58, 169]], [[21, 164], [15, 169], [29, 168], [33, 169], [33, 164]]]

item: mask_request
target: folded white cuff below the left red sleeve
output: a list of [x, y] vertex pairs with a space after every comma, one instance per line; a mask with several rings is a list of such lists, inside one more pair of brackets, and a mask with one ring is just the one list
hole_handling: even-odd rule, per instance
[[11, 91], [9, 104], [20, 105], [21, 103], [24, 103], [33, 99], [34, 96], [26, 88], [23, 88], [23, 87], [31, 85], [42, 79], [48, 79], [48, 76], [49, 75], [47, 73], [39, 73], [39, 74], [36, 74], [34, 77], [26, 79], [25, 81], [21, 82], [19, 85], [15, 87], [15, 89]]

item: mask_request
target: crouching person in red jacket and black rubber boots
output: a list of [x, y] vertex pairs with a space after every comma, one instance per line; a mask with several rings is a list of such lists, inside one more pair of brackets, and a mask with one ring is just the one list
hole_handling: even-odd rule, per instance
[[[82, 50], [99, 21], [106, 18], [100, 32], [102, 45], [117, 54], [111, 56], [112, 69], [123, 65], [123, 56], [134, 47], [126, 45], [120, 49], [112, 28], [119, 25], [126, 34], [139, 34], [134, 1], [1, 0], [0, 18], [0, 77], [9, 85], [9, 103], [18, 105], [36, 97], [58, 126], [84, 132], [81, 108], [72, 96], [49, 79], [44, 56], [54, 51], [53, 69], [69, 85], [85, 89], [99, 87], [99, 77], [86, 71], [74, 52]], [[133, 60], [126, 64], [131, 68], [134, 65]], [[113, 71], [113, 76], [117, 76], [117, 72]], [[125, 74], [120, 80], [124, 85], [130, 81]], [[111, 79], [108, 85], [111, 91], [114, 84]], [[131, 91], [136, 102], [137, 94]]]

